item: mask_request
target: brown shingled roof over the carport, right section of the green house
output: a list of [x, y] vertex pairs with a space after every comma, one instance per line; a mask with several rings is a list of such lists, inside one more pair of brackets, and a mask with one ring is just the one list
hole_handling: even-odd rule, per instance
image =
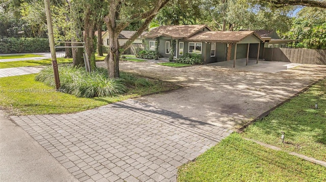
[[225, 42], [238, 43], [250, 35], [263, 41], [254, 31], [203, 31], [188, 38], [188, 41], [207, 41], [207, 42]]

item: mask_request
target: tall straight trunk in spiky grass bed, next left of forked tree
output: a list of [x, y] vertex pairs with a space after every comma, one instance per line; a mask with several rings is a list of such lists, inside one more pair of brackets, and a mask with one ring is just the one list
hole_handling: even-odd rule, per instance
[[84, 34], [84, 42], [85, 42], [85, 51], [87, 53], [88, 60], [91, 62], [91, 70], [96, 68], [95, 62], [95, 54], [93, 48], [93, 36], [94, 36], [94, 21], [90, 19], [91, 11], [89, 7], [86, 7], [85, 10], [85, 34]]

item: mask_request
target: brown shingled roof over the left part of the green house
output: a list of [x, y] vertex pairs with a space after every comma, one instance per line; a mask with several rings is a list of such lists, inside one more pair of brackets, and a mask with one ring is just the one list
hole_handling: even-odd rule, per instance
[[173, 39], [186, 39], [199, 32], [200, 30], [207, 28], [212, 31], [207, 25], [168, 25], [168, 26], [159, 26], [147, 34], [146, 38], [157, 38], [161, 36], [170, 37]]

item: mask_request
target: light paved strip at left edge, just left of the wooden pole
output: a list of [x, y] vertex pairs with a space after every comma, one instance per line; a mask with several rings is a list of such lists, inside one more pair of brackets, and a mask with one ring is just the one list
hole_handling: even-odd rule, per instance
[[0, 69], [0, 78], [19, 75], [37, 74], [44, 66], [11, 67]]

